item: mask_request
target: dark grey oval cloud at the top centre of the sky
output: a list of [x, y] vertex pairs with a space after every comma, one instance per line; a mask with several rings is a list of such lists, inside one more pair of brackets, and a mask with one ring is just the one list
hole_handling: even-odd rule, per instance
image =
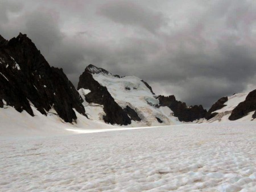
[[146, 9], [132, 1], [109, 1], [100, 7], [98, 14], [113, 22], [142, 27], [150, 32], [167, 24], [162, 13]]

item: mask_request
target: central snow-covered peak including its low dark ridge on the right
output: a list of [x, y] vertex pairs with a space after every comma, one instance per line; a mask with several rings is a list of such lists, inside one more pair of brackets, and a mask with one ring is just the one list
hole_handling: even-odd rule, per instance
[[[151, 86], [137, 77], [120, 77], [94, 65], [85, 68], [77, 89], [84, 98], [89, 118], [111, 124], [177, 124], [204, 118], [207, 113], [203, 106], [187, 107], [184, 102], [176, 101], [174, 95], [155, 95]], [[93, 111], [95, 103], [98, 109]]]

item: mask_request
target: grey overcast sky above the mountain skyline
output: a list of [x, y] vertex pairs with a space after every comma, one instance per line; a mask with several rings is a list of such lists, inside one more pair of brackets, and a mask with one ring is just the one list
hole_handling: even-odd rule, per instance
[[256, 88], [253, 0], [0, 0], [0, 34], [19, 32], [75, 86], [93, 64], [206, 108]]

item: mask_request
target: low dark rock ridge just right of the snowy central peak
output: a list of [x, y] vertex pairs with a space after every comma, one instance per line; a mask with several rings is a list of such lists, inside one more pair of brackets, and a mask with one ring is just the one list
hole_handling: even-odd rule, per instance
[[167, 106], [171, 108], [174, 112], [174, 116], [183, 122], [192, 122], [193, 120], [204, 118], [207, 113], [207, 110], [205, 110], [201, 105], [187, 107], [186, 103], [176, 101], [174, 95], [170, 95], [168, 97], [159, 95], [157, 99], [159, 100], [160, 106]]

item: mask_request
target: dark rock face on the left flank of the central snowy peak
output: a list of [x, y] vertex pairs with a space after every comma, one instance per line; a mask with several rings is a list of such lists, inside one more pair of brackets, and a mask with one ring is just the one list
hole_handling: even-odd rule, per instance
[[119, 125], [131, 124], [131, 119], [122, 107], [114, 101], [114, 98], [109, 93], [108, 89], [94, 80], [91, 73], [95, 71], [98, 73], [96, 68], [96, 66], [89, 65], [85, 69], [84, 73], [79, 77], [77, 89], [89, 89], [90, 93], [85, 95], [85, 100], [89, 103], [103, 105], [103, 110], [106, 114], [103, 119], [106, 123]]

